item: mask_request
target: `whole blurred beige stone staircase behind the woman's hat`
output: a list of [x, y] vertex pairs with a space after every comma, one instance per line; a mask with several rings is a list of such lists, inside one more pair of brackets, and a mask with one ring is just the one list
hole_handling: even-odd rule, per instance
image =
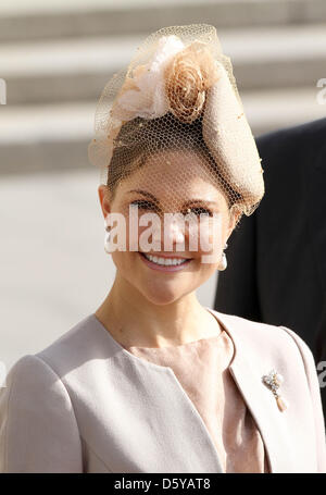
[[2, 174], [90, 166], [87, 145], [102, 88], [149, 33], [168, 25], [216, 26], [255, 135], [326, 116], [316, 87], [326, 78], [325, 0], [15, 5], [0, 7]]

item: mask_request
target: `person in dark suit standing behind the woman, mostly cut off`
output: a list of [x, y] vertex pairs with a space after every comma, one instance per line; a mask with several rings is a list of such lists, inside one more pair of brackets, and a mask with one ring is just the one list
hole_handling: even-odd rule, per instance
[[310, 346], [326, 414], [326, 119], [256, 138], [265, 196], [228, 240], [214, 308]]

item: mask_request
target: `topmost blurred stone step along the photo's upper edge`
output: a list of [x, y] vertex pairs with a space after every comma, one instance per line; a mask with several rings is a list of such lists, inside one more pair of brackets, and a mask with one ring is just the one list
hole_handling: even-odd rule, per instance
[[325, 0], [16, 0], [0, 5], [0, 41], [125, 36], [192, 23], [217, 28], [326, 22]]

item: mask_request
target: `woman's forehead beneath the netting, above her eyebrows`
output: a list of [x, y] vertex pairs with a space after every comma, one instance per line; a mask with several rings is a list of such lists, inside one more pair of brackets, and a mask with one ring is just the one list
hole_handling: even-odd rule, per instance
[[179, 201], [198, 198], [226, 202], [225, 196], [203, 157], [191, 151], [164, 151], [147, 162], [121, 183], [120, 193], [142, 189], [158, 199]]

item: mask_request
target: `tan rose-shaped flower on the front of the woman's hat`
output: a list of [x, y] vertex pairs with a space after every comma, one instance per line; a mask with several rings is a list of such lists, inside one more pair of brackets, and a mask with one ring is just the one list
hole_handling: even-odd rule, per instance
[[205, 91], [217, 79], [217, 67], [205, 44], [195, 41], [179, 51], [165, 70], [171, 112], [181, 122], [195, 121], [202, 111]]

